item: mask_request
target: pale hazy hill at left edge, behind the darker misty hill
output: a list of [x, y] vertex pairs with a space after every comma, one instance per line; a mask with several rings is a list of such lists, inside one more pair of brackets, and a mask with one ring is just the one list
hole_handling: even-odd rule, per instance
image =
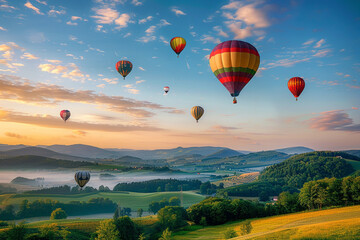
[[92, 161], [92, 159], [88, 158], [80, 158], [71, 155], [57, 153], [45, 148], [40, 147], [24, 147], [19, 149], [13, 149], [8, 151], [0, 152], [0, 158], [10, 158], [10, 157], [17, 157], [17, 156], [24, 156], [24, 155], [34, 155], [34, 156], [41, 156], [47, 158], [55, 158], [61, 160], [69, 160], [69, 161]]

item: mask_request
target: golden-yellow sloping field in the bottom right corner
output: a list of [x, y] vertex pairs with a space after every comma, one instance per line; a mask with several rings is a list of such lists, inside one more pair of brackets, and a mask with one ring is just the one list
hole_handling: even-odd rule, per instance
[[[175, 233], [174, 240], [224, 239], [224, 232], [234, 229], [240, 236], [236, 221], [219, 226]], [[360, 206], [322, 211], [302, 212], [253, 219], [250, 234], [233, 239], [360, 239]]]

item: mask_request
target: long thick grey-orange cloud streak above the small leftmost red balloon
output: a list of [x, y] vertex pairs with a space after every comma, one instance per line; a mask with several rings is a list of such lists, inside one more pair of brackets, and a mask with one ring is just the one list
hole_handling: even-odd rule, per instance
[[55, 84], [30, 83], [16, 76], [0, 74], [0, 99], [27, 104], [57, 105], [75, 102], [105, 107], [106, 110], [135, 117], [151, 117], [155, 110], [176, 110], [148, 101], [137, 101], [122, 96], [97, 94], [92, 90], [70, 90]]

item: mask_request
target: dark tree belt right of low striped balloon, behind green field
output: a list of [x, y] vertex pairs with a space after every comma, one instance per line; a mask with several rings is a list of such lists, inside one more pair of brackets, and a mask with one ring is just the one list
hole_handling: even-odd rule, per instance
[[114, 191], [131, 192], [169, 192], [199, 189], [201, 181], [199, 180], [177, 180], [177, 179], [154, 179], [144, 182], [119, 183], [114, 187]]

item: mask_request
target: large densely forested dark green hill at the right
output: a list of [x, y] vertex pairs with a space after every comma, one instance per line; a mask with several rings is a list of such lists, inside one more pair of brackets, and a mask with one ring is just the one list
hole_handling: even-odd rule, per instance
[[266, 168], [259, 180], [301, 188], [308, 181], [326, 177], [342, 178], [353, 173], [355, 169], [346, 160], [360, 161], [360, 158], [344, 152], [299, 154]]

